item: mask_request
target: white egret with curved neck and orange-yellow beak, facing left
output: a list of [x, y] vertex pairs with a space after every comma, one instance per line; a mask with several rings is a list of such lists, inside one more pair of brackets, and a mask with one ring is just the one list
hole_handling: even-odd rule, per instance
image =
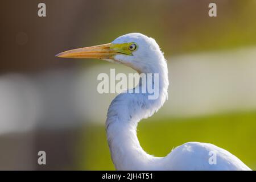
[[[106, 133], [117, 170], [251, 170], [230, 152], [210, 143], [184, 143], [165, 157], [152, 156], [143, 150], [137, 138], [138, 122], [158, 111], [168, 97], [167, 63], [154, 39], [131, 33], [112, 43], [72, 49], [56, 56], [102, 59], [127, 65], [138, 73], [158, 73], [158, 98], [148, 100], [149, 93], [125, 92], [118, 94], [109, 106]], [[135, 88], [142, 86], [139, 82]], [[215, 163], [210, 162], [212, 154]]]

